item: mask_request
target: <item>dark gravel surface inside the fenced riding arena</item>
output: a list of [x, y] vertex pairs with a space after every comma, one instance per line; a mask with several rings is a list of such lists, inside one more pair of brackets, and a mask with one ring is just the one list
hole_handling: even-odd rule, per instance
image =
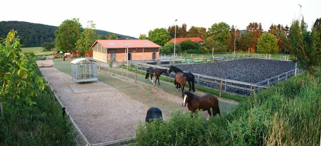
[[174, 65], [183, 71], [217, 78], [258, 83], [294, 69], [290, 61], [268, 59], [240, 59], [224, 62]]

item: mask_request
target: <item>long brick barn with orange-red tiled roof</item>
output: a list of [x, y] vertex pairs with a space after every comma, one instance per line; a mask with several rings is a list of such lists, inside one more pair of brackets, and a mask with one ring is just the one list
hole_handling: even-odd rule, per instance
[[92, 44], [92, 58], [102, 62], [109, 62], [110, 59], [113, 61], [127, 60], [126, 46], [128, 46], [129, 60], [158, 59], [161, 47], [147, 39], [98, 39]]

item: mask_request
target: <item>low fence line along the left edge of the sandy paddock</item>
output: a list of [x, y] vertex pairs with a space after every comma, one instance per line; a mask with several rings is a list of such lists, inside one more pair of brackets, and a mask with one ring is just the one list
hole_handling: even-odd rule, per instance
[[[38, 68], [39, 69], [39, 68]], [[49, 85], [49, 88], [52, 92], [52, 98], [53, 101], [57, 100], [60, 104], [61, 107], [64, 107], [63, 103], [61, 102], [59, 96], [57, 95], [57, 93], [54, 91], [54, 89], [51, 87], [50, 83], [48, 82], [47, 78], [45, 77], [45, 75], [43, 74], [43, 72], [39, 69], [39, 71], [41, 72], [41, 74], [43, 75], [43, 77], [45, 78], [46, 82]], [[88, 142], [88, 140], [86, 139], [86, 137], [84, 136], [84, 134], [80, 131], [79, 127], [77, 126], [77, 124], [75, 123], [74, 119], [70, 116], [69, 112], [67, 109], [65, 109], [66, 115], [69, 119], [69, 121], [72, 123], [72, 125], [75, 128], [75, 132], [77, 132], [77, 136], [75, 138], [75, 141], [77, 143], [77, 146], [91, 146], [91, 144]]]

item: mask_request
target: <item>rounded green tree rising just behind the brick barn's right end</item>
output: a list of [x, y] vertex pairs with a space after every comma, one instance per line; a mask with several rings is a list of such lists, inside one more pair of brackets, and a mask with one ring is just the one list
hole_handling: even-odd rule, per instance
[[148, 32], [148, 38], [150, 41], [160, 46], [164, 46], [164, 44], [170, 40], [170, 34], [164, 28], [157, 28]]

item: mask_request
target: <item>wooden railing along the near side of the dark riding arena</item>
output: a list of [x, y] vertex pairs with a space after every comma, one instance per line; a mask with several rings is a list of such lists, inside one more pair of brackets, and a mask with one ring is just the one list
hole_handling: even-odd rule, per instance
[[[143, 71], [146, 72], [147, 68], [149, 67], [169, 69], [168, 67], [164, 67], [164, 66], [151, 65], [151, 64], [140, 63], [140, 62], [130, 62], [129, 65], [131, 69], [136, 68], [138, 71], [140, 70], [141, 73]], [[222, 92], [228, 92], [230, 94], [236, 94], [240, 96], [245, 96], [245, 95], [249, 96], [251, 95], [251, 93], [255, 91], [255, 88], [266, 88], [264, 86], [246, 83], [246, 82], [234, 81], [234, 80], [223, 79], [223, 78], [215, 78], [215, 77], [196, 74], [196, 73], [193, 73], [193, 74], [195, 76], [196, 85], [218, 90], [220, 91], [220, 95], [222, 94]], [[162, 75], [162, 76], [166, 77], [165, 75]], [[175, 78], [175, 73], [172, 72], [169, 78], [170, 78], [170, 81], [171, 81], [171, 78], [172, 79]]]

